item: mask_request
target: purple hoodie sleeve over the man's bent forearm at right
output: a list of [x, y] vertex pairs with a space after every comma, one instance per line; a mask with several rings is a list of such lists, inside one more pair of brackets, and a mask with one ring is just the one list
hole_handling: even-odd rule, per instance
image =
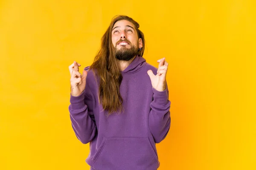
[[150, 104], [149, 129], [156, 143], [165, 139], [171, 126], [169, 91], [166, 84], [165, 91], [153, 88], [153, 101]]

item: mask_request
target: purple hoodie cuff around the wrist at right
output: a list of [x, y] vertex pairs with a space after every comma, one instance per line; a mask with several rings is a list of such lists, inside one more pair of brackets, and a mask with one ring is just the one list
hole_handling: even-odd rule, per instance
[[168, 105], [168, 94], [167, 90], [164, 91], [157, 91], [155, 88], [153, 89], [153, 98], [154, 98], [154, 105], [156, 106], [166, 106]]

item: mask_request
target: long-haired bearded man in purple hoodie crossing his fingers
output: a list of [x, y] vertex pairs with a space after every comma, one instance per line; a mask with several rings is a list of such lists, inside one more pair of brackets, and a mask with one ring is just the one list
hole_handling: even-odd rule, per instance
[[157, 170], [156, 143], [170, 129], [165, 58], [158, 69], [142, 57], [144, 35], [132, 18], [114, 17], [90, 67], [69, 66], [70, 119], [90, 142], [91, 170]]

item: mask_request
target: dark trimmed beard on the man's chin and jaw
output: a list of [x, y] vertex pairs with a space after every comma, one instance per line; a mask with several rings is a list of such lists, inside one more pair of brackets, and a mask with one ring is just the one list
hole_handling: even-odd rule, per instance
[[137, 45], [137, 48], [134, 45], [132, 45], [131, 48], [122, 46], [119, 50], [116, 48], [116, 59], [129, 61], [138, 54], [138, 46], [139, 45]]

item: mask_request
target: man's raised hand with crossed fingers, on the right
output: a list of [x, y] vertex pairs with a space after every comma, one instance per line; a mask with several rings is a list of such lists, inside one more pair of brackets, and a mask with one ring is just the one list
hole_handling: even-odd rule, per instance
[[148, 70], [148, 76], [151, 79], [152, 87], [157, 91], [164, 91], [166, 89], [166, 73], [168, 70], [168, 63], [165, 58], [157, 60], [159, 62], [157, 75], [154, 75], [152, 70]]

